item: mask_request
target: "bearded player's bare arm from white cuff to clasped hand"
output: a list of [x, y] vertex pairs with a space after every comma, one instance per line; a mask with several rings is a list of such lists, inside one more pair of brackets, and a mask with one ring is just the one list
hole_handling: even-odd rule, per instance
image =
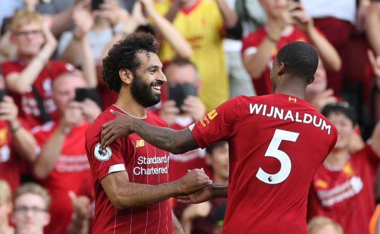
[[163, 184], [139, 184], [129, 182], [128, 173], [119, 171], [101, 180], [109, 200], [117, 209], [157, 203], [180, 194], [192, 193], [212, 181], [203, 169], [188, 171], [181, 179]]

